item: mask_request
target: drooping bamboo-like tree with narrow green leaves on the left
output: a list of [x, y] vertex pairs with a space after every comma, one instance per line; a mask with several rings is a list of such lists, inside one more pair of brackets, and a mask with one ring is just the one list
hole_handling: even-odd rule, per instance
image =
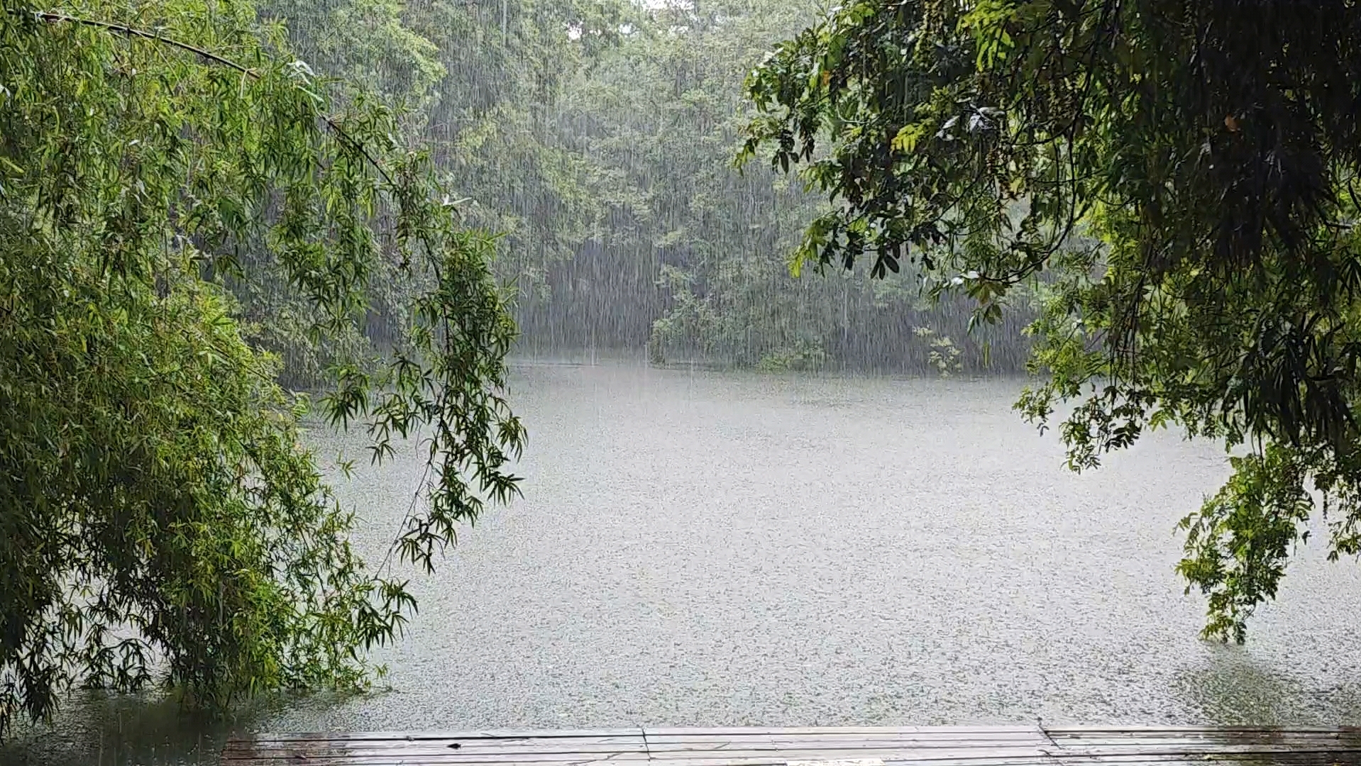
[[78, 683], [362, 686], [415, 608], [351, 551], [308, 400], [233, 316], [257, 269], [316, 332], [359, 327], [389, 267], [414, 286], [391, 351], [320, 403], [374, 459], [429, 446], [393, 556], [433, 567], [516, 491], [493, 238], [391, 110], [332, 102], [257, 30], [249, 3], [0, 14], [0, 735]]

